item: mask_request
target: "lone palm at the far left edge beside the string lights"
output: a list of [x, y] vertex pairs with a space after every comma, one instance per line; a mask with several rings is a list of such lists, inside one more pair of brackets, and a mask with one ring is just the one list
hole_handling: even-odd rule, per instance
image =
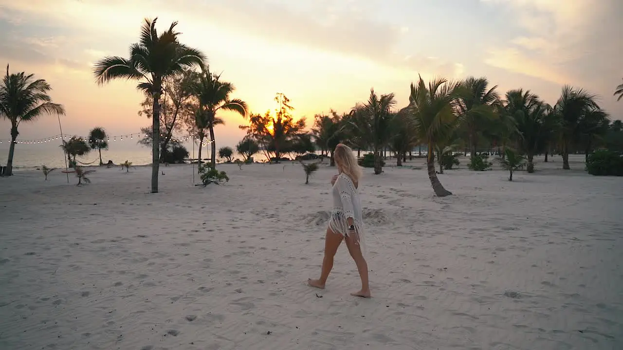
[[4, 176], [13, 174], [13, 155], [20, 123], [35, 121], [44, 114], [65, 114], [62, 105], [52, 103], [48, 95], [50, 90], [50, 84], [43, 79], [35, 80], [34, 74], [9, 74], [9, 65], [6, 65], [6, 75], [0, 84], [0, 116], [11, 122], [11, 144]]

